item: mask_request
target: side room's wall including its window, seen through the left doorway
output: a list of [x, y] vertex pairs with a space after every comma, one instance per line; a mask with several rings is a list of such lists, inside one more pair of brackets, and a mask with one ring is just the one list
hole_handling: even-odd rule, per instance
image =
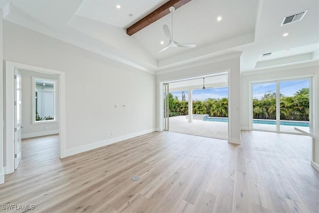
[[18, 69], [22, 78], [22, 139], [59, 133], [59, 76]]

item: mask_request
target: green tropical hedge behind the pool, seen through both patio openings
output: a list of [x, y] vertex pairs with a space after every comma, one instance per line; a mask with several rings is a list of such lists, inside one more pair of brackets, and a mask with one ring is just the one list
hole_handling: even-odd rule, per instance
[[[169, 116], [187, 115], [188, 102], [182, 93], [182, 101], [169, 93]], [[192, 101], [193, 114], [208, 114], [211, 117], [228, 117], [228, 98], [208, 98]], [[303, 88], [294, 96], [280, 94], [280, 119], [309, 121], [309, 88]], [[254, 119], [276, 119], [276, 93], [264, 94], [261, 100], [253, 99]]]

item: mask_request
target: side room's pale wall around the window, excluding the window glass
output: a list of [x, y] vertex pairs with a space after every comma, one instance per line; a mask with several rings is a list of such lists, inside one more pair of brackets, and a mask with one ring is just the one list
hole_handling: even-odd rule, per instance
[[55, 108], [56, 108], [56, 122], [54, 123], [37, 123], [32, 124], [32, 76], [40, 78], [48, 78], [58, 80], [58, 75], [50, 75], [46, 73], [33, 72], [30, 70], [19, 69], [21, 74], [21, 106], [22, 106], [22, 138], [31, 138], [43, 135], [51, 135], [59, 133], [58, 123], [58, 82], [55, 86]]

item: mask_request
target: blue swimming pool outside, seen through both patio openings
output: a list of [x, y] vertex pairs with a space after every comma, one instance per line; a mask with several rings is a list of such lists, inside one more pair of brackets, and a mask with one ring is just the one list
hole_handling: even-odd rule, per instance
[[[204, 121], [228, 122], [228, 118], [209, 117], [207, 119], [204, 119]], [[253, 119], [253, 123], [254, 124], [276, 125], [276, 121], [274, 121], [274, 120]], [[307, 122], [307, 121], [280, 121], [280, 125], [282, 125], [282, 126], [309, 127], [309, 122]]]

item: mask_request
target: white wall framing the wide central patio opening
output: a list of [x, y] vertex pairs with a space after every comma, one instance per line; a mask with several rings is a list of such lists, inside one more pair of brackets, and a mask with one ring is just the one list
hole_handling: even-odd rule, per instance
[[[240, 55], [241, 52], [232, 55], [213, 58], [211, 63], [185, 68], [179, 71], [167, 72], [157, 75], [157, 129], [163, 130], [162, 115], [162, 83], [181, 80], [191, 77], [199, 77], [219, 72], [228, 72], [228, 98], [229, 98], [229, 122], [228, 142], [241, 143], [240, 133]], [[165, 72], [165, 71], [164, 71]]]

